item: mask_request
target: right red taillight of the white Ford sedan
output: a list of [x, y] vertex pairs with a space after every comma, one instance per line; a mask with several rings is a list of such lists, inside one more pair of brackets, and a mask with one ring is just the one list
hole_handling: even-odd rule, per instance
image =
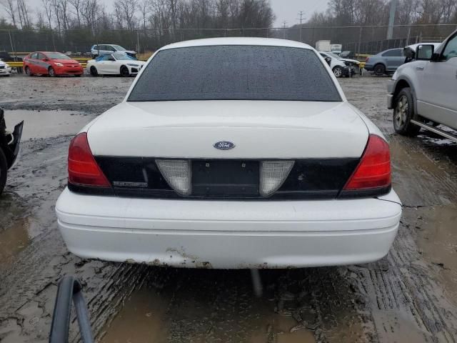
[[390, 185], [391, 152], [384, 139], [371, 134], [356, 171], [346, 183], [344, 190], [373, 189]]

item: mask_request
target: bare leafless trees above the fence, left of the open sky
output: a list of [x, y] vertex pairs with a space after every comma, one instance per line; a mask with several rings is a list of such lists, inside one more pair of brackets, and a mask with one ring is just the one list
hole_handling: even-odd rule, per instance
[[[115, 0], [106, 9], [102, 0], [0, 0], [5, 29], [161, 30], [272, 26], [269, 0]], [[0, 27], [1, 28], [1, 27]]]

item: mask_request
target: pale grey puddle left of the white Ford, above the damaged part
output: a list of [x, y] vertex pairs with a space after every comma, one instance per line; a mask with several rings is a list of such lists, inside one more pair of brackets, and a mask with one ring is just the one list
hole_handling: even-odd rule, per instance
[[49, 138], [66, 134], [76, 134], [93, 119], [92, 116], [75, 111], [28, 111], [5, 112], [8, 129], [24, 120], [22, 139]]

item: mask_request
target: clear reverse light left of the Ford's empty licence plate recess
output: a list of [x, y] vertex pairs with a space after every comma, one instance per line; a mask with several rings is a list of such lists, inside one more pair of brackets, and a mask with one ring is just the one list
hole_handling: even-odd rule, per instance
[[172, 189], [182, 195], [190, 195], [191, 162], [185, 160], [156, 159], [156, 164], [162, 176]]

